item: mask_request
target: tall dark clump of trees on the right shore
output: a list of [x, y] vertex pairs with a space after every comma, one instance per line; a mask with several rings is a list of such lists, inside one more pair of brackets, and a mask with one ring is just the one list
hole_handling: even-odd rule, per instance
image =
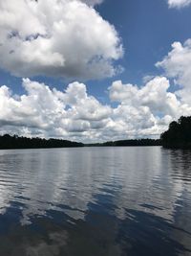
[[191, 116], [173, 121], [160, 136], [162, 146], [174, 149], [191, 149]]

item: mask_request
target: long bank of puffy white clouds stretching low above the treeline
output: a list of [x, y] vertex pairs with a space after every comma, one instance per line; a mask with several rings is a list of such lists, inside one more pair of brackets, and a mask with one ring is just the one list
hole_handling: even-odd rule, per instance
[[26, 136], [61, 137], [97, 142], [136, 137], [159, 137], [168, 124], [191, 106], [184, 104], [170, 83], [156, 77], [142, 87], [114, 81], [109, 87], [111, 102], [102, 105], [87, 93], [86, 85], [70, 83], [65, 91], [44, 83], [23, 80], [25, 93], [14, 95], [0, 87], [0, 132]]

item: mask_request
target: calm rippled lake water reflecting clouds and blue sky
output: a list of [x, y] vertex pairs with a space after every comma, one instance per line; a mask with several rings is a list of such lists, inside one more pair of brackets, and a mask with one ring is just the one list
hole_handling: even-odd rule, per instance
[[191, 151], [0, 151], [0, 255], [191, 255]]

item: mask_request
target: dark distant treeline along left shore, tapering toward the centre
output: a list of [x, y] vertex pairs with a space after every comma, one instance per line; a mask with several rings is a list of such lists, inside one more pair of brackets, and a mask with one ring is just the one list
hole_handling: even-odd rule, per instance
[[68, 140], [26, 138], [9, 134], [0, 136], [0, 149], [72, 148], [83, 146], [82, 143]]

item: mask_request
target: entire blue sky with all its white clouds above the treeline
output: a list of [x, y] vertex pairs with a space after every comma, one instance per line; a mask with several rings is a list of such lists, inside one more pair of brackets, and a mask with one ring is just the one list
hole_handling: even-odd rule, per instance
[[191, 0], [0, 1], [0, 134], [159, 138], [191, 115]]

